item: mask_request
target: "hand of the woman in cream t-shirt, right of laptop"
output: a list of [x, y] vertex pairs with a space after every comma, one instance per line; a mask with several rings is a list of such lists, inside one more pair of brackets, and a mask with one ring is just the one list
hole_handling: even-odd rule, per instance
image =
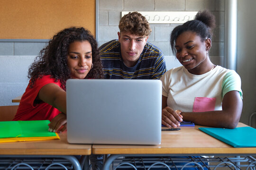
[[166, 127], [179, 127], [183, 121], [183, 116], [180, 113], [175, 112], [169, 106], [162, 110], [162, 124]]

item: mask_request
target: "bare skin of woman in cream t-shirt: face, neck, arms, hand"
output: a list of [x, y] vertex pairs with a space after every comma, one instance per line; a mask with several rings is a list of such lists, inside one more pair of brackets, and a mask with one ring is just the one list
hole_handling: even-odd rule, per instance
[[[214, 66], [206, 55], [210, 47], [210, 39], [201, 41], [200, 36], [187, 31], [180, 34], [175, 41], [176, 58], [190, 73], [201, 75]], [[243, 102], [239, 92], [230, 91], [223, 97], [222, 110], [178, 114], [167, 106], [167, 97], [162, 96], [162, 124], [167, 127], [179, 127], [179, 121], [184, 120], [202, 126], [235, 128], [238, 125], [242, 107]]]

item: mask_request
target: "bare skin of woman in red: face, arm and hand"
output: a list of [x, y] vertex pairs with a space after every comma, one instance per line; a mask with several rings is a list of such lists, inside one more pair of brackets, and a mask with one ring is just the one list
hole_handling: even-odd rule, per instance
[[[67, 65], [74, 79], [84, 79], [91, 69], [92, 53], [88, 41], [75, 41], [69, 45]], [[49, 131], [63, 132], [66, 129], [66, 92], [55, 84], [43, 86], [38, 99], [46, 102], [61, 111], [55, 116], [49, 126]]]

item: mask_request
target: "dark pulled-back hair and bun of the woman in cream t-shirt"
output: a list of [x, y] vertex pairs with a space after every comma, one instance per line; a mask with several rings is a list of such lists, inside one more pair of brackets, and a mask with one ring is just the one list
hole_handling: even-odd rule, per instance
[[215, 28], [215, 16], [207, 10], [199, 11], [194, 20], [187, 21], [181, 26], [176, 26], [171, 33], [170, 42], [172, 51], [175, 54], [175, 41], [180, 34], [192, 31], [201, 37], [201, 41], [212, 37]]

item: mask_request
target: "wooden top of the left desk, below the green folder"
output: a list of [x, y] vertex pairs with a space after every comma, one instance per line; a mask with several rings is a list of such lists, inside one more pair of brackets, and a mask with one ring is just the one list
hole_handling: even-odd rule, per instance
[[91, 144], [68, 144], [67, 133], [60, 140], [1, 143], [0, 154], [12, 155], [90, 155]]

